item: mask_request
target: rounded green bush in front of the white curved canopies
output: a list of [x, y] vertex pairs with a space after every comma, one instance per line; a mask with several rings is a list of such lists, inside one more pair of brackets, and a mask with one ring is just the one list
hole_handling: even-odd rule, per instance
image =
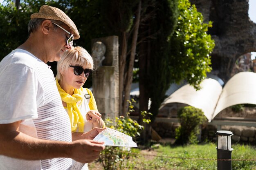
[[196, 144], [200, 125], [206, 121], [204, 113], [199, 108], [186, 106], [178, 110], [177, 116], [181, 126], [176, 128], [176, 144]]

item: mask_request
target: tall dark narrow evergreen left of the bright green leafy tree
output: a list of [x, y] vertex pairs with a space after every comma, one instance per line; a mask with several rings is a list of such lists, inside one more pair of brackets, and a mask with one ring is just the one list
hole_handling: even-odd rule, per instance
[[[160, 101], [163, 100], [164, 94], [171, 82], [169, 75], [170, 66], [168, 63], [170, 58], [170, 42], [168, 38], [173, 34], [177, 24], [177, 2], [177, 0], [155, 1], [155, 7], [148, 9], [148, 13], [153, 13], [153, 18], [146, 21], [146, 28], [142, 26], [141, 32], [146, 30], [147, 35], [143, 35], [141, 39], [144, 39], [146, 36], [153, 38], [148, 39], [145, 42], [146, 45], [141, 44], [142, 48], [139, 53], [140, 89], [143, 90], [141, 84], [144, 84], [146, 88], [144, 93], [140, 93], [142, 94], [142, 96], [140, 95], [140, 103], [144, 103], [146, 106], [140, 106], [140, 109], [146, 110], [148, 108], [147, 99], [151, 98], [150, 112], [154, 116], [157, 114], [156, 110], [158, 110]], [[147, 68], [144, 68], [145, 66]], [[147, 96], [144, 98], [143, 94]], [[144, 99], [145, 101], [141, 101]]]

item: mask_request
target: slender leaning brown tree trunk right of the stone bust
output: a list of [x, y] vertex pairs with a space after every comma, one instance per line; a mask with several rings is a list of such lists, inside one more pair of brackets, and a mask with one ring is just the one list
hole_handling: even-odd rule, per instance
[[123, 111], [122, 111], [123, 114], [126, 113], [128, 110], [127, 100], [130, 99], [130, 89], [131, 89], [132, 74], [133, 74], [132, 71], [133, 71], [133, 66], [134, 66], [137, 39], [138, 39], [138, 33], [139, 33], [140, 13], [141, 13], [141, 0], [139, 1], [138, 10], [136, 13], [135, 28], [134, 28], [133, 36], [132, 36], [132, 47], [131, 47], [131, 53], [130, 53], [130, 61], [129, 61], [129, 67], [128, 67], [126, 80], [125, 80], [124, 101], [123, 101], [124, 103], [123, 103]]

